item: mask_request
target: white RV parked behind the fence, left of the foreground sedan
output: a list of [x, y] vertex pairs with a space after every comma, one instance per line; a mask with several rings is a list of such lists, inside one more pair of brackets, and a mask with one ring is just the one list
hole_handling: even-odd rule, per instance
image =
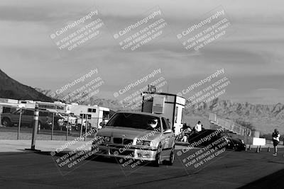
[[[97, 105], [78, 105], [77, 103], [72, 103], [72, 105], [70, 105], [70, 112], [83, 118], [83, 123], [87, 117], [91, 127], [96, 129], [102, 128], [99, 125], [100, 122], [109, 120], [109, 108]], [[78, 120], [78, 122], [82, 121]]]

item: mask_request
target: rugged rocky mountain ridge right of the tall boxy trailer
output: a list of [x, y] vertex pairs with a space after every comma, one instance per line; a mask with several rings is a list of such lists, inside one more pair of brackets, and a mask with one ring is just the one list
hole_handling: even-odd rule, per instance
[[200, 115], [208, 118], [210, 112], [216, 113], [222, 118], [251, 122], [256, 130], [260, 130], [263, 133], [271, 133], [274, 128], [278, 128], [280, 132], [284, 133], [284, 105], [281, 103], [254, 105], [216, 98], [207, 104], [202, 104], [199, 109], [194, 107], [187, 108], [186, 115]]

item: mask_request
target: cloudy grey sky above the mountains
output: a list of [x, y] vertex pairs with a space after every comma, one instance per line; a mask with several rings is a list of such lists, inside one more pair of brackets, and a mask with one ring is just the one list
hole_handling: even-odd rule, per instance
[[[141, 50], [121, 50], [113, 34], [158, 6], [168, 33]], [[231, 22], [226, 35], [197, 53], [175, 37], [222, 6]], [[80, 53], [62, 55], [50, 33], [97, 8], [102, 35]], [[0, 2], [0, 69], [28, 86], [55, 91], [92, 68], [104, 80], [100, 98], [161, 69], [167, 90], [183, 88], [224, 68], [230, 85], [220, 98], [259, 104], [284, 103], [283, 1], [11, 1]]]

